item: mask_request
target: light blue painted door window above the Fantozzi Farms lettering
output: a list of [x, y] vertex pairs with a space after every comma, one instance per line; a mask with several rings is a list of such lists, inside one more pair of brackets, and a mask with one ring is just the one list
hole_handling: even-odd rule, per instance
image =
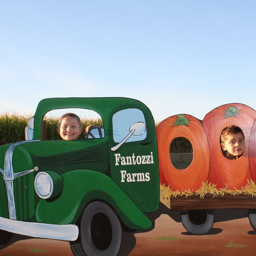
[[[113, 125], [113, 140], [116, 143], [120, 143], [129, 133], [134, 124], [143, 123], [146, 127], [145, 117], [143, 112], [138, 108], [127, 108], [116, 112], [112, 118]], [[145, 140], [147, 137], [147, 131], [140, 135], [134, 134], [129, 137], [126, 142]]]

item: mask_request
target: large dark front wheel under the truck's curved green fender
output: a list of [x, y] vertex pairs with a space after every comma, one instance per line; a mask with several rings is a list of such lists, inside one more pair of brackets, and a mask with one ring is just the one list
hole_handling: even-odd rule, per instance
[[107, 204], [90, 203], [83, 212], [80, 239], [70, 242], [76, 256], [115, 256], [122, 241], [120, 221]]

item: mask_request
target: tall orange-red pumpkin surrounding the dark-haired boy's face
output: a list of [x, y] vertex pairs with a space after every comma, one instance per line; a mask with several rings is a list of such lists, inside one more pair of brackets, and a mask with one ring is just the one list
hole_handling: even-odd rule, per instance
[[[213, 109], [203, 119], [204, 130], [210, 147], [209, 182], [216, 187], [240, 189], [251, 180], [248, 160], [250, 131], [256, 119], [256, 111], [247, 105], [230, 103]], [[224, 128], [239, 126], [244, 133], [245, 149], [239, 159], [229, 160], [222, 154], [220, 136]]]

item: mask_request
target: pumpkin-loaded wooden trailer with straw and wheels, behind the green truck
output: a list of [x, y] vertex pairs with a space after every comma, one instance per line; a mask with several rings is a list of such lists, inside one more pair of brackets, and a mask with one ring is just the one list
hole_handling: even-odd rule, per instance
[[[180, 122], [180, 116], [186, 117], [186, 122]], [[210, 111], [200, 132], [192, 125], [195, 119], [184, 114], [171, 116], [158, 125], [160, 201], [171, 210], [180, 210], [182, 224], [190, 233], [209, 232], [214, 209], [249, 209], [250, 224], [256, 228], [255, 119], [252, 108], [232, 103]], [[244, 153], [236, 160], [227, 159], [221, 150], [221, 131], [230, 125], [239, 126], [244, 133]], [[175, 170], [170, 160], [169, 148], [175, 137], [185, 137], [193, 146], [193, 161], [184, 170]], [[207, 142], [200, 137], [206, 137]], [[204, 159], [194, 165], [197, 154], [204, 155]]]

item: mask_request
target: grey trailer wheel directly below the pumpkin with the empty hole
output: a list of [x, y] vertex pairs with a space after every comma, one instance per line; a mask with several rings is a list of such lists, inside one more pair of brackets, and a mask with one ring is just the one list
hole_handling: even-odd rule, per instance
[[180, 215], [186, 230], [196, 235], [209, 232], [214, 223], [214, 210], [186, 210]]

